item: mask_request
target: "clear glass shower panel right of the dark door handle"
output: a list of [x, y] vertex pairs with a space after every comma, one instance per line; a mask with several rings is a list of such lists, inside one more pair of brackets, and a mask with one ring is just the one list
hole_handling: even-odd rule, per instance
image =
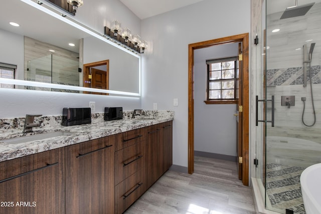
[[[309, 3], [312, 2], [304, 4]], [[263, 88], [267, 99], [275, 97], [275, 120], [274, 127], [266, 125], [266, 208], [280, 213], [286, 209], [305, 213], [300, 174], [321, 162], [321, 3], [315, 3], [305, 15], [295, 8], [291, 15], [285, 12], [294, 3], [280, 4], [279, 8], [276, 5], [267, 0]], [[269, 103], [265, 112], [269, 120]]]

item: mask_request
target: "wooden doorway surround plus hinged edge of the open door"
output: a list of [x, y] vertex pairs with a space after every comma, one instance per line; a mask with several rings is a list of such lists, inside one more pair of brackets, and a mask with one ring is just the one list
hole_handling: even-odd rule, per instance
[[[194, 50], [216, 45], [240, 43], [241, 54], [238, 107], [238, 165], [244, 185], [249, 185], [249, 44], [248, 33], [214, 39], [189, 45], [189, 124], [188, 124], [188, 172], [194, 172]], [[240, 108], [241, 107], [241, 108]], [[240, 108], [240, 109], [239, 109]]]

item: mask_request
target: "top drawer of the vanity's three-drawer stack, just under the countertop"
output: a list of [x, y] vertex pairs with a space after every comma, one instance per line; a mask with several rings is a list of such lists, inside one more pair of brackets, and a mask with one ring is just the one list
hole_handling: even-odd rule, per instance
[[145, 128], [134, 129], [116, 135], [115, 151], [145, 140]]

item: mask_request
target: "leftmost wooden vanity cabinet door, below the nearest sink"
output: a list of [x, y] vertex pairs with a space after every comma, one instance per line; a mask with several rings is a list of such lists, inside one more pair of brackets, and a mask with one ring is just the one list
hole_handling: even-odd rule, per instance
[[65, 213], [64, 148], [0, 162], [0, 213]]

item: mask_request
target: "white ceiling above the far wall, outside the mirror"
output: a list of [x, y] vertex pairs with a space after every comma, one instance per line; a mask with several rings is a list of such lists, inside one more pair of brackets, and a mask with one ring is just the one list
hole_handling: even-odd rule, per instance
[[141, 20], [204, 0], [120, 0]]

